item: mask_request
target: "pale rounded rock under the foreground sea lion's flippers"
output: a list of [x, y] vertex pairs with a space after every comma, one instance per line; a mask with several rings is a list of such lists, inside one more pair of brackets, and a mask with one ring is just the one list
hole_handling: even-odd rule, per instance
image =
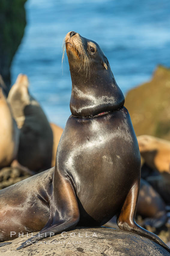
[[[33, 233], [34, 235], [35, 233]], [[66, 237], [63, 237], [66, 236]], [[77, 228], [67, 233], [43, 239], [37, 244], [17, 251], [27, 237], [17, 238], [0, 248], [3, 255], [170, 255], [157, 243], [136, 234], [109, 228]], [[80, 237], [81, 236], [81, 237]], [[87, 237], [86, 237], [87, 236]], [[28, 236], [30, 237], [30, 235]]]

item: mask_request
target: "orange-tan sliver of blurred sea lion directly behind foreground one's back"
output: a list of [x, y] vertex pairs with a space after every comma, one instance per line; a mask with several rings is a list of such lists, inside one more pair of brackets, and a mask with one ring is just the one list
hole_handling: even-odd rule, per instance
[[57, 147], [58, 147], [58, 143], [60, 141], [63, 129], [57, 126], [55, 123], [50, 123], [50, 126], [53, 133], [52, 162], [51, 162], [51, 166], [53, 167], [55, 166]]

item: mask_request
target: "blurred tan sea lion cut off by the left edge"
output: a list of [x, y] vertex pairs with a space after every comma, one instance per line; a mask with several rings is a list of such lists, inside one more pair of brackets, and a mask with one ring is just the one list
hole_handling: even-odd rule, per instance
[[16, 158], [19, 130], [0, 86], [0, 168], [10, 166]]

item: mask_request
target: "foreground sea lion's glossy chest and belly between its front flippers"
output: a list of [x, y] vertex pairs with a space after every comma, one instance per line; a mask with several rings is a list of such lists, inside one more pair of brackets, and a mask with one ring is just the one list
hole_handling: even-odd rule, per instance
[[140, 153], [127, 109], [92, 118], [70, 116], [57, 164], [72, 180], [87, 225], [111, 218], [140, 175]]

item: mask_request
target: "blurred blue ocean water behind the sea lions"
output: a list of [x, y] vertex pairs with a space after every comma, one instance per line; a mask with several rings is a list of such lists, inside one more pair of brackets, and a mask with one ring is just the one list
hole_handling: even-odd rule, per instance
[[61, 45], [74, 30], [96, 41], [126, 92], [151, 78], [157, 64], [170, 66], [169, 0], [28, 0], [27, 26], [12, 63], [12, 82], [28, 75], [30, 92], [49, 121], [65, 126], [71, 78]]

